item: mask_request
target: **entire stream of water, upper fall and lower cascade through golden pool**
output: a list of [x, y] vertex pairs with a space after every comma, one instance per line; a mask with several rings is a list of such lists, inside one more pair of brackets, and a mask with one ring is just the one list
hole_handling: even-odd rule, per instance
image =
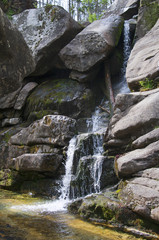
[[[130, 54], [128, 32], [126, 23], [122, 76], [125, 76]], [[117, 88], [120, 92], [128, 90], [125, 77], [121, 78]], [[0, 239], [136, 239], [134, 236], [84, 222], [67, 212], [67, 204], [72, 199], [101, 191], [104, 164], [102, 145], [108, 123], [108, 113], [103, 112], [101, 106], [108, 108], [108, 102], [102, 100], [92, 117], [86, 119], [85, 130], [70, 140], [58, 199], [46, 201], [35, 199], [32, 193], [24, 196], [0, 190]]]

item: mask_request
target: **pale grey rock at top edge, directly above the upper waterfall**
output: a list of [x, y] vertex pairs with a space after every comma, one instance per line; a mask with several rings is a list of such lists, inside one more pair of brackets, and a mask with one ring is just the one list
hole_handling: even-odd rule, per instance
[[128, 20], [138, 13], [139, 2], [139, 0], [115, 0], [103, 15], [108, 17], [117, 14]]

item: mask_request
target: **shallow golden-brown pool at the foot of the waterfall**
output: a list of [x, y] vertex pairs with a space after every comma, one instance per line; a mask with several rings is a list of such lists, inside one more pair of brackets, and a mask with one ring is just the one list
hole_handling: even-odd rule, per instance
[[[66, 211], [34, 211], [44, 200], [0, 190], [0, 239], [4, 240], [135, 240], [119, 233], [82, 221]], [[139, 239], [139, 238], [138, 238]]]

